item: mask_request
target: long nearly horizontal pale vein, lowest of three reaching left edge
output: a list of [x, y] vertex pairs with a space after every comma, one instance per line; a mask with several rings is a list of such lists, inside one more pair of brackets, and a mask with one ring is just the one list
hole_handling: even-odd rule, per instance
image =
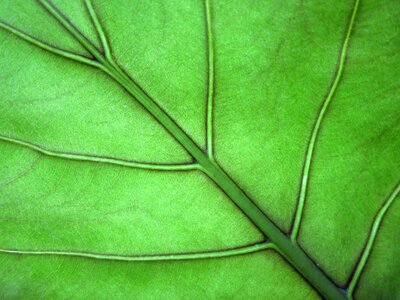
[[249, 254], [272, 248], [274, 248], [274, 245], [271, 243], [259, 243], [241, 248], [209, 251], [209, 252], [162, 254], [162, 255], [138, 255], [138, 256], [125, 256], [125, 255], [115, 255], [115, 254], [100, 254], [100, 253], [74, 252], [74, 251], [45, 251], [45, 250], [40, 251], [40, 250], [13, 250], [13, 249], [0, 249], [0, 253], [19, 254], [19, 255], [21, 254], [59, 255], [59, 256], [75, 256], [75, 257], [84, 257], [92, 259], [102, 259], [102, 260], [146, 262], [146, 261], [171, 261], [171, 260], [221, 258], [221, 257]]

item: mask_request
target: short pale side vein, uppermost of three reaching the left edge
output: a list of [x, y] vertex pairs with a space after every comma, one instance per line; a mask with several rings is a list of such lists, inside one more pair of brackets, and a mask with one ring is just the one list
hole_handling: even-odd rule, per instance
[[30, 44], [38, 47], [38, 48], [41, 48], [43, 50], [46, 50], [46, 51], [51, 52], [53, 54], [56, 54], [58, 56], [62, 56], [64, 58], [68, 58], [68, 59], [71, 59], [71, 60], [74, 60], [74, 61], [77, 61], [77, 62], [80, 62], [80, 63], [84, 63], [84, 64], [92, 66], [92, 67], [96, 67], [96, 68], [100, 68], [101, 67], [100, 64], [97, 63], [96, 61], [93, 61], [93, 60], [91, 60], [89, 58], [86, 58], [86, 57], [84, 57], [82, 55], [78, 55], [78, 54], [75, 54], [75, 53], [72, 53], [72, 52], [69, 52], [69, 51], [54, 47], [54, 46], [49, 45], [47, 43], [44, 43], [44, 42], [40, 41], [39, 39], [34, 38], [33, 36], [23, 32], [23, 31], [15, 28], [15, 27], [3, 22], [3, 21], [0, 21], [0, 28], [3, 28], [5, 30], [7, 30], [8, 32], [14, 34], [15, 36], [21, 38], [22, 40], [24, 40], [24, 41], [26, 41], [26, 42], [28, 42], [28, 43], [30, 43]]

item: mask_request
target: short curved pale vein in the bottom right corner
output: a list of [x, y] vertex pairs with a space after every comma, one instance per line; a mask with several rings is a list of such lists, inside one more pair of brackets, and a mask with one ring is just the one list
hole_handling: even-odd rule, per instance
[[354, 274], [350, 280], [349, 287], [347, 290], [347, 294], [349, 298], [352, 298], [354, 289], [357, 285], [358, 280], [367, 264], [368, 258], [371, 255], [372, 247], [374, 246], [374, 242], [376, 240], [376, 236], [378, 234], [379, 228], [382, 224], [383, 218], [389, 210], [390, 206], [393, 204], [394, 200], [400, 195], [400, 183], [397, 184], [393, 192], [390, 194], [389, 198], [385, 201], [384, 205], [378, 211], [374, 222], [372, 224], [371, 231], [369, 233], [367, 244], [362, 252], [361, 258], [356, 266]]

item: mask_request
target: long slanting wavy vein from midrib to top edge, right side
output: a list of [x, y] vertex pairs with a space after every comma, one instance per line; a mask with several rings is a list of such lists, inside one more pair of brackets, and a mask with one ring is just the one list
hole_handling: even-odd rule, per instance
[[309, 143], [307, 146], [306, 158], [305, 158], [303, 172], [302, 172], [302, 176], [301, 176], [301, 184], [300, 184], [299, 198], [298, 198], [298, 202], [297, 202], [297, 209], [296, 209], [296, 213], [295, 213], [295, 217], [294, 217], [294, 221], [293, 221], [292, 232], [291, 232], [291, 239], [293, 242], [297, 241], [300, 224], [301, 224], [301, 220], [303, 217], [304, 203], [306, 200], [308, 183], [309, 183], [311, 162], [313, 159], [316, 141], [318, 138], [319, 131], [321, 129], [321, 124], [323, 122], [323, 119], [326, 115], [328, 107], [333, 99], [333, 96], [339, 85], [340, 79], [342, 78], [342, 75], [343, 75], [344, 64], [345, 64], [346, 55], [347, 55], [347, 49], [348, 49], [351, 33], [352, 33], [352, 30], [354, 27], [354, 21], [355, 21], [356, 15], [357, 15], [359, 3], [360, 3], [360, 0], [356, 0], [354, 3], [354, 7], [353, 7], [353, 11], [352, 11], [352, 14], [350, 17], [346, 36], [344, 38], [342, 50], [340, 53], [336, 75], [335, 75], [334, 81], [331, 85], [331, 88], [329, 90], [329, 93], [326, 96], [326, 98], [321, 106], [321, 109], [318, 113], [318, 117], [315, 121], [314, 127], [311, 132], [311, 137], [310, 137], [310, 140], [309, 140]]

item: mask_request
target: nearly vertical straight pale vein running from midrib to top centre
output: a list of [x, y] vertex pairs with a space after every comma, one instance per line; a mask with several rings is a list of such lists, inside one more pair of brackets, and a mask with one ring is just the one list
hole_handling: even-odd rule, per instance
[[212, 19], [210, 1], [204, 0], [207, 34], [207, 56], [208, 56], [208, 90], [207, 90], [207, 153], [212, 159], [213, 149], [213, 109], [214, 109], [214, 38], [212, 32]]

